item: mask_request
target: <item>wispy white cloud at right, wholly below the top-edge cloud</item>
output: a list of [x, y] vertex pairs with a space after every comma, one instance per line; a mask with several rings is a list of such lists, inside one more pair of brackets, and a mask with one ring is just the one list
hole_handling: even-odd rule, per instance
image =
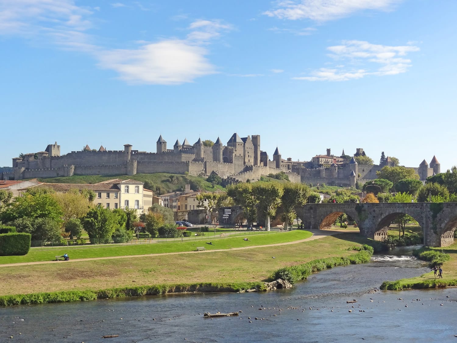
[[[367, 75], [384, 76], [405, 73], [411, 60], [405, 56], [419, 51], [416, 46], [388, 46], [363, 41], [343, 41], [341, 45], [328, 47], [329, 57], [336, 62], [345, 61], [333, 68], [314, 70], [309, 76], [293, 77], [294, 80], [347, 81]], [[348, 65], [349, 64], [349, 65]]]

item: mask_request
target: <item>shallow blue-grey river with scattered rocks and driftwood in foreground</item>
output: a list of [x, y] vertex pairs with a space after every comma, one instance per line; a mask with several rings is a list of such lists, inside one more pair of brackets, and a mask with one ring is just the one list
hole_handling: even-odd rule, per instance
[[[430, 271], [404, 256], [410, 250], [327, 269], [293, 289], [268, 293], [1, 308], [0, 341], [89, 343], [119, 335], [108, 342], [457, 342], [457, 288], [367, 293], [384, 280]], [[358, 302], [346, 303], [353, 299]], [[240, 315], [203, 318], [207, 311]]]

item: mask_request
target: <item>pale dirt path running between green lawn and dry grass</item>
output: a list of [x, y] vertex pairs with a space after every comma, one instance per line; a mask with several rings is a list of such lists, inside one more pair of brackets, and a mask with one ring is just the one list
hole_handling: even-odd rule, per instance
[[[244, 250], [244, 249], [252, 249], [252, 248], [277, 247], [277, 246], [282, 246], [282, 245], [302, 243], [302, 242], [306, 242], [306, 241], [314, 241], [315, 239], [323, 238], [323, 237], [326, 237], [326, 236], [338, 235], [340, 233], [344, 233], [345, 231], [310, 230], [310, 232], [313, 233], [313, 236], [305, 238], [305, 239], [302, 239], [302, 240], [299, 240], [299, 241], [292, 241], [292, 242], [285, 242], [285, 243], [255, 245], [255, 246], [250, 246], [250, 247], [238, 247], [238, 248], [230, 248], [230, 249], [205, 250], [205, 251], [201, 251], [201, 252], [196, 252], [196, 251], [162, 252], [162, 253], [159, 253], [159, 254], [75, 258], [75, 259], [71, 259], [70, 261], [67, 261], [67, 262], [109, 260], [109, 259], [113, 259], [113, 258], [131, 258], [131, 257], [146, 257], [146, 256], [160, 256], [160, 255], [201, 254], [201, 253], [205, 253], [205, 252], [221, 252], [221, 251]], [[6, 264], [0, 264], [0, 267], [16, 267], [16, 266], [27, 266], [27, 265], [31, 265], [31, 264], [44, 264], [44, 263], [57, 263], [57, 262], [58, 261], [37, 261], [37, 262], [6, 263]], [[60, 261], [60, 262], [64, 262], [64, 261]]]

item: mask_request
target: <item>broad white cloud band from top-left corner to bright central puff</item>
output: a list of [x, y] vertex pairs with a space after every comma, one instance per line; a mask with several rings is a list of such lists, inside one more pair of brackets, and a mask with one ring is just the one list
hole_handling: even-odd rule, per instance
[[[112, 5], [122, 7], [122, 3]], [[0, 0], [0, 36], [39, 39], [90, 54], [100, 68], [117, 72], [129, 84], [178, 85], [217, 72], [202, 45], [232, 29], [219, 20], [196, 20], [185, 39], [165, 38], [112, 49], [97, 44], [97, 37], [87, 33], [96, 20], [92, 14], [92, 9], [77, 6], [74, 0]]]

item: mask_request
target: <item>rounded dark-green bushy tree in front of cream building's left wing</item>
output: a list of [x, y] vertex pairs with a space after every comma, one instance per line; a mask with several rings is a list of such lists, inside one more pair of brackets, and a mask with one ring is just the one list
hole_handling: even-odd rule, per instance
[[90, 209], [83, 220], [84, 230], [96, 243], [99, 240], [111, 239], [114, 231], [120, 227], [119, 217], [110, 209], [101, 206]]

